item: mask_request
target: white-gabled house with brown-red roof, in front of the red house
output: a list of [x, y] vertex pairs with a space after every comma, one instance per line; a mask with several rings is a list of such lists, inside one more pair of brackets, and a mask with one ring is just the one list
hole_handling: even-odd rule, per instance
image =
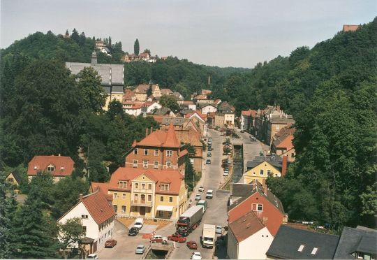
[[274, 236], [253, 211], [228, 224], [230, 259], [266, 259]]

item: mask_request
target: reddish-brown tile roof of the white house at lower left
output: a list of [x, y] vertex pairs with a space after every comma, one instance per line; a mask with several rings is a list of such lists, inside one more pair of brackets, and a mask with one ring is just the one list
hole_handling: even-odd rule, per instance
[[84, 203], [85, 208], [87, 208], [98, 225], [116, 215], [114, 208], [112, 208], [106, 196], [99, 189], [94, 193], [83, 196], [80, 201]]

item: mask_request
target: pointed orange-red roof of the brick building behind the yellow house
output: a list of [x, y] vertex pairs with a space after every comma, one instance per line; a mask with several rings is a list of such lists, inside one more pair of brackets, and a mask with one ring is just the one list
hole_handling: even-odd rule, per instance
[[147, 137], [142, 139], [137, 145], [158, 146], [158, 147], [181, 147], [181, 143], [175, 134], [174, 125], [170, 124], [168, 131], [157, 130], [151, 132]]

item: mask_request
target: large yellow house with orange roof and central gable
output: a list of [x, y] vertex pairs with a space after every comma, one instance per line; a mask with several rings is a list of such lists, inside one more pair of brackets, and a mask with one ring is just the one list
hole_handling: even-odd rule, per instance
[[178, 219], [187, 204], [184, 176], [170, 168], [118, 168], [107, 194], [118, 217]]

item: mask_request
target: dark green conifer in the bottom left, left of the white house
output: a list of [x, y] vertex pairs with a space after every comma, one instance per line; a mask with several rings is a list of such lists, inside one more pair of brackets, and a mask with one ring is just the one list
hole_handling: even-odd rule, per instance
[[43, 203], [39, 198], [27, 198], [15, 217], [13, 232], [17, 242], [13, 245], [15, 258], [51, 259], [56, 258], [57, 226], [45, 217]]

